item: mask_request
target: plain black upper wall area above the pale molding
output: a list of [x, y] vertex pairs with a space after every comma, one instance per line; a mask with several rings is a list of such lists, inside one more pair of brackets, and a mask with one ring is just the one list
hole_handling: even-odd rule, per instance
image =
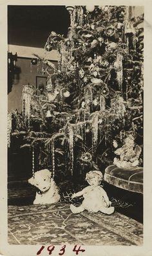
[[44, 48], [50, 32], [66, 35], [68, 26], [65, 6], [8, 5], [8, 44]]

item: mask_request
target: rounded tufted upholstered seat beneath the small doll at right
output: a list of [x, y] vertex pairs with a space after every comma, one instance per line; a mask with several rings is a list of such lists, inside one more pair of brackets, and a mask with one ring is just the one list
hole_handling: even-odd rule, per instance
[[124, 190], [143, 193], [143, 168], [118, 168], [110, 165], [105, 170], [104, 181]]

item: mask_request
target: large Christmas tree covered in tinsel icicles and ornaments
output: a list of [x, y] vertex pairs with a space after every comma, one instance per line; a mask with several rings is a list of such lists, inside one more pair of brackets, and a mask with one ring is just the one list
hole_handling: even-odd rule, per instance
[[35, 55], [46, 92], [23, 86], [23, 113], [8, 116], [8, 144], [10, 133], [23, 136], [33, 173], [48, 168], [60, 180], [103, 171], [128, 134], [142, 146], [143, 15], [131, 17], [129, 6], [66, 8], [67, 37], [51, 32], [44, 46], [58, 50], [58, 68]]

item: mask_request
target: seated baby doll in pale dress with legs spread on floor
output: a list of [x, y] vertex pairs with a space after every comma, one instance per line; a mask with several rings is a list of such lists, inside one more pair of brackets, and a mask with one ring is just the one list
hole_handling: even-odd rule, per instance
[[106, 214], [111, 214], [114, 212], [115, 208], [111, 207], [111, 202], [109, 201], [107, 193], [100, 186], [103, 179], [103, 175], [99, 171], [90, 171], [86, 173], [86, 181], [90, 184], [82, 191], [73, 193], [72, 198], [80, 197], [83, 195], [84, 201], [82, 201], [81, 206], [70, 205], [71, 212], [80, 213], [84, 210], [89, 212], [102, 212]]

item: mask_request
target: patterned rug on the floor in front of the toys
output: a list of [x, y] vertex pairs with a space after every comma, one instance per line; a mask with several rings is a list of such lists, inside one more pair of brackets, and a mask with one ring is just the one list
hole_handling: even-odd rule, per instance
[[9, 244], [142, 245], [143, 225], [118, 212], [73, 214], [69, 204], [8, 206]]

